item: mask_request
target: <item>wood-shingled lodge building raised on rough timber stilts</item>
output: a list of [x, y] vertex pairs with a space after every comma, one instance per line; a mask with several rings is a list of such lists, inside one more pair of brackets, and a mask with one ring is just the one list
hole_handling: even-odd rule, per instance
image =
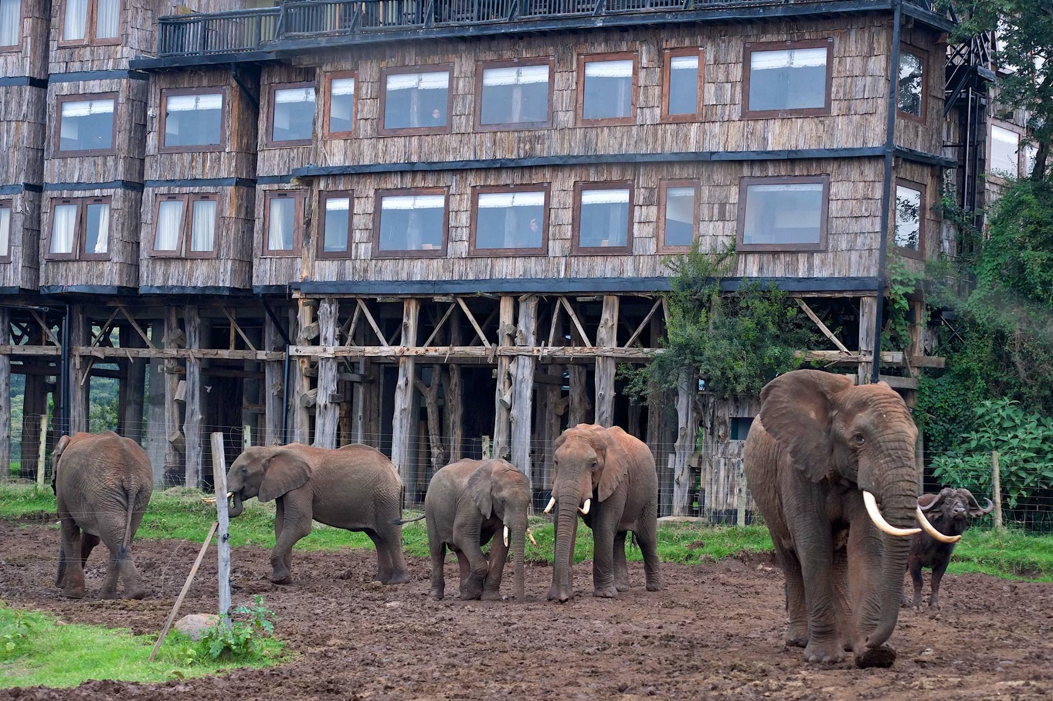
[[939, 360], [923, 329], [906, 358], [875, 349], [889, 251], [955, 252], [932, 205], [949, 184], [977, 207], [990, 148], [989, 40], [949, 50], [953, 21], [928, 0], [0, 0], [0, 384], [25, 376], [0, 463], [20, 440], [32, 473], [48, 400], [53, 437], [85, 430], [116, 378], [159, 481], [211, 483], [223, 431], [232, 454], [375, 445], [408, 501], [452, 458], [508, 455], [543, 503], [552, 440], [595, 420], [655, 450], [663, 513], [734, 507], [752, 398], [619, 393], [663, 333], [662, 259], [733, 246], [723, 284], [836, 319], [811, 357], [910, 391]]

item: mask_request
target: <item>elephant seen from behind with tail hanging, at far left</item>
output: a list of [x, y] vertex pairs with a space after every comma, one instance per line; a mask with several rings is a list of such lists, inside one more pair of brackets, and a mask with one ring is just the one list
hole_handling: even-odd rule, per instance
[[78, 433], [59, 439], [52, 462], [52, 489], [62, 529], [55, 584], [65, 596], [83, 597], [84, 562], [101, 540], [110, 549], [102, 598], [116, 597], [120, 576], [124, 596], [141, 599], [146, 591], [132, 561], [132, 538], [154, 491], [146, 453], [139, 444], [111, 431]]

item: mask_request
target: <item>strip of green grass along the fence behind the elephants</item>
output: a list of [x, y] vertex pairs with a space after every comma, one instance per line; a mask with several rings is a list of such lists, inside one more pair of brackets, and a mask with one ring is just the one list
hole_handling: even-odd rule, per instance
[[[201, 502], [201, 493], [185, 488], [155, 490], [150, 509], [137, 538], [178, 539], [201, 542], [215, 519], [212, 504]], [[35, 515], [55, 513], [51, 489], [37, 494], [32, 486], [0, 484], [0, 518], [32, 519]], [[419, 512], [416, 512], [419, 514]], [[408, 517], [416, 515], [406, 512]], [[526, 543], [526, 559], [537, 564], [552, 562], [553, 529], [548, 518], [535, 517], [531, 528], [537, 547]], [[408, 523], [402, 530], [408, 555], [428, 556], [428, 532], [423, 521]], [[231, 543], [274, 547], [274, 503], [252, 499], [244, 513], [231, 521]], [[297, 543], [299, 550], [337, 550], [372, 548], [362, 533], [349, 533], [315, 524], [311, 535]], [[695, 564], [713, 562], [740, 553], [770, 552], [772, 542], [762, 525], [746, 528], [670, 523], [658, 530], [658, 554], [662, 561]], [[582, 561], [592, 553], [592, 531], [579, 521], [574, 559]], [[630, 547], [630, 560], [639, 560], [638, 548]], [[1053, 581], [1053, 535], [1030, 535], [1007, 530], [1000, 536], [993, 531], [973, 529], [954, 551], [951, 572], [986, 574], [1009, 579]]]

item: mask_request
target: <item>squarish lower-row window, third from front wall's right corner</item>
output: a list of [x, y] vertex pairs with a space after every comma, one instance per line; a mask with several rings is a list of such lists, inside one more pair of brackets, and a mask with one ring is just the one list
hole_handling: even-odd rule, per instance
[[578, 253], [633, 250], [633, 184], [575, 183], [574, 244]]

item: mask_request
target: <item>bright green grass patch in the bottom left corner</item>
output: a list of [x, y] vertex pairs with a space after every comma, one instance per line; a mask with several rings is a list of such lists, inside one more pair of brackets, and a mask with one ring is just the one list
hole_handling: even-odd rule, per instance
[[[25, 638], [11, 653], [3, 650], [4, 634], [21, 619], [28, 624]], [[235, 667], [261, 667], [282, 659], [282, 645], [274, 638], [260, 640], [259, 655], [249, 661], [186, 665], [180, 651], [190, 639], [173, 632], [157, 659], [147, 662], [154, 636], [136, 636], [126, 630], [101, 625], [64, 624], [40, 612], [9, 609], [0, 602], [0, 688], [9, 686], [76, 686], [92, 679], [164, 682], [174, 678], [203, 677]]]

